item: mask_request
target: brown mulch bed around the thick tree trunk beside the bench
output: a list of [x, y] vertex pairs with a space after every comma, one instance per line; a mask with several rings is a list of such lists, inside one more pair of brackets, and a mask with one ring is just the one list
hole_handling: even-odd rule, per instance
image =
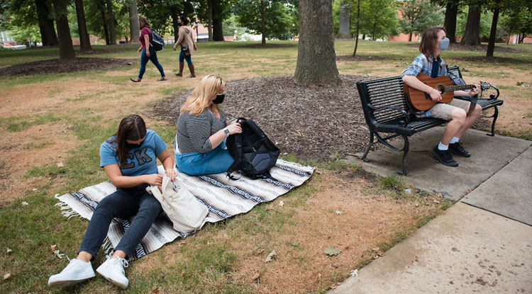
[[[369, 132], [356, 82], [367, 77], [340, 75], [336, 87], [299, 86], [292, 76], [228, 81], [223, 111], [228, 118], [250, 118], [283, 153], [326, 160], [335, 152], [354, 154]], [[157, 103], [157, 116], [171, 125], [192, 92], [180, 91]]]

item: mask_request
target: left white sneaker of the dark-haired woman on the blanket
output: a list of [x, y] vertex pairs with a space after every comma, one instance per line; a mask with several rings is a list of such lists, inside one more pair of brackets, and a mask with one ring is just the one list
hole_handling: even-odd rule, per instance
[[90, 261], [70, 259], [70, 263], [60, 273], [50, 276], [48, 285], [50, 287], [65, 287], [85, 281], [94, 276], [96, 275], [94, 274]]

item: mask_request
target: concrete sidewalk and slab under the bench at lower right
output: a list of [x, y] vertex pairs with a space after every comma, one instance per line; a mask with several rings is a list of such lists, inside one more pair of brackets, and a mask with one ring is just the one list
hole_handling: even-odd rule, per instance
[[[472, 157], [450, 168], [431, 157], [435, 129], [414, 136], [402, 179], [475, 206], [456, 203], [329, 293], [532, 293], [532, 142], [469, 130]], [[381, 176], [400, 167], [399, 152], [368, 158]]]

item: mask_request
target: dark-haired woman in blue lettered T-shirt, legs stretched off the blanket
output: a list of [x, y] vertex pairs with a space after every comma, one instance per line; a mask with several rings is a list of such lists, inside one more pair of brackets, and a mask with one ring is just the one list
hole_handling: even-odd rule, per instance
[[113, 217], [135, 217], [120, 243], [96, 271], [120, 288], [128, 287], [124, 267], [126, 259], [150, 230], [161, 213], [160, 203], [146, 191], [149, 185], [161, 185], [157, 173], [157, 159], [165, 167], [167, 176], [177, 175], [174, 161], [166, 151], [165, 142], [153, 130], [146, 130], [138, 115], [123, 118], [115, 135], [100, 146], [100, 166], [104, 168], [116, 192], [106, 196], [96, 206], [76, 259], [48, 280], [52, 287], [66, 286], [94, 277], [91, 261], [104, 242]]

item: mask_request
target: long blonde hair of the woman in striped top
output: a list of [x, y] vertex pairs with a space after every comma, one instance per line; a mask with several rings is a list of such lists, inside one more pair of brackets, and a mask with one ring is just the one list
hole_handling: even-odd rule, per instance
[[[179, 114], [189, 111], [190, 114], [200, 115], [206, 108], [209, 107], [211, 97], [226, 89], [226, 82], [221, 77], [216, 77], [213, 74], [203, 77], [199, 81], [199, 85], [192, 91], [187, 101], [184, 101]], [[219, 104], [211, 104], [209, 107], [211, 111], [220, 109]]]

